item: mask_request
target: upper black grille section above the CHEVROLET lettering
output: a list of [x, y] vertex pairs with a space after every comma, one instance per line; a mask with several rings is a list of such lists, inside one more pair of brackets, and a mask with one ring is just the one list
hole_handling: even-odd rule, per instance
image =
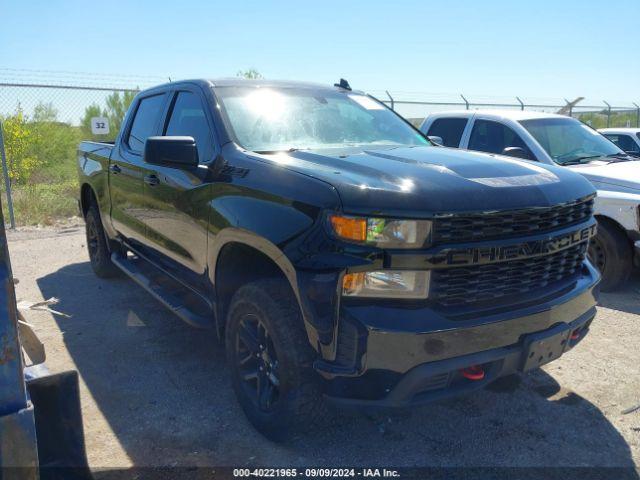
[[474, 242], [558, 230], [590, 218], [593, 202], [593, 197], [586, 197], [553, 207], [435, 218], [432, 243]]

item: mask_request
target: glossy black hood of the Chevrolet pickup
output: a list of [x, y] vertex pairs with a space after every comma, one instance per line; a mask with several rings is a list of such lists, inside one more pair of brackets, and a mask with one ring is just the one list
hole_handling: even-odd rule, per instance
[[347, 213], [423, 217], [551, 206], [595, 192], [566, 168], [444, 147], [264, 156], [333, 185]]

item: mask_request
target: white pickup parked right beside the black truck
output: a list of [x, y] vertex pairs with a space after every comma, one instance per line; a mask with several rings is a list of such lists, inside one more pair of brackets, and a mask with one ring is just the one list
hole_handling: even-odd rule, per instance
[[640, 163], [591, 127], [550, 113], [463, 110], [429, 115], [420, 129], [447, 147], [561, 165], [584, 175], [598, 189], [598, 234], [589, 257], [602, 273], [602, 290], [622, 286], [640, 263]]

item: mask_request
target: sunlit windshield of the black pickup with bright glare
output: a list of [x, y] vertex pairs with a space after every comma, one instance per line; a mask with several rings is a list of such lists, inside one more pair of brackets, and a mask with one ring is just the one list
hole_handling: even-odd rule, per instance
[[271, 87], [217, 87], [215, 92], [236, 141], [255, 152], [429, 145], [365, 95]]

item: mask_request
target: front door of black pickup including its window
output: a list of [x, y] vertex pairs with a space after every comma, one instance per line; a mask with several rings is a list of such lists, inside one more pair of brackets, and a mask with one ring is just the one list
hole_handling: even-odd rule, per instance
[[207, 265], [207, 201], [212, 185], [210, 170], [203, 164], [217, 153], [206, 105], [197, 87], [178, 88], [172, 92], [161, 129], [161, 135], [193, 137], [201, 165], [146, 164], [144, 176], [147, 246], [155, 263], [192, 287], [203, 285]]

